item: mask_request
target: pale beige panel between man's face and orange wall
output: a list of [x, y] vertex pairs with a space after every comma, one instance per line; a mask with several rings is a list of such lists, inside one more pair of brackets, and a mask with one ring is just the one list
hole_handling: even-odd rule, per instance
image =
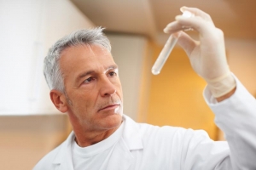
[[119, 77], [124, 94], [124, 113], [137, 121], [140, 89], [143, 80], [143, 59], [147, 38], [122, 34], [107, 34], [113, 59], [119, 65]]

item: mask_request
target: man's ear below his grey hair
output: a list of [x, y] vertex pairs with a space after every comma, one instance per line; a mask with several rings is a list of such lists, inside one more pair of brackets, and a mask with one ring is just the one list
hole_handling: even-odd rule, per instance
[[62, 113], [67, 112], [67, 99], [64, 94], [62, 94], [58, 90], [51, 90], [49, 92], [50, 99], [52, 103], [55, 105], [57, 110], [61, 111]]

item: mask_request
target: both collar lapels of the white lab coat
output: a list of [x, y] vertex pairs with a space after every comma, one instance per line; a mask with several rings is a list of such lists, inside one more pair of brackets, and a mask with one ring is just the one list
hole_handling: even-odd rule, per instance
[[[125, 123], [124, 133], [122, 139], [119, 140], [115, 149], [113, 150], [113, 156], [108, 162], [107, 169], [127, 169], [130, 167], [133, 157], [131, 156], [131, 150], [142, 150], [143, 140], [139, 133], [139, 124], [134, 122], [129, 116], [123, 116]], [[59, 152], [56, 154], [53, 164], [55, 164], [55, 170], [73, 170], [73, 140], [75, 138], [74, 133], [70, 133], [67, 140], [61, 144]], [[118, 162], [118, 163], [117, 163]]]

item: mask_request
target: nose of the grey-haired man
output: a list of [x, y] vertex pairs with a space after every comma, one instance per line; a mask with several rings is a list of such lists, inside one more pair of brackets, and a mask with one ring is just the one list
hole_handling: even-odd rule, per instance
[[102, 97], [111, 96], [116, 93], [116, 87], [108, 77], [103, 77], [101, 81], [100, 94]]

